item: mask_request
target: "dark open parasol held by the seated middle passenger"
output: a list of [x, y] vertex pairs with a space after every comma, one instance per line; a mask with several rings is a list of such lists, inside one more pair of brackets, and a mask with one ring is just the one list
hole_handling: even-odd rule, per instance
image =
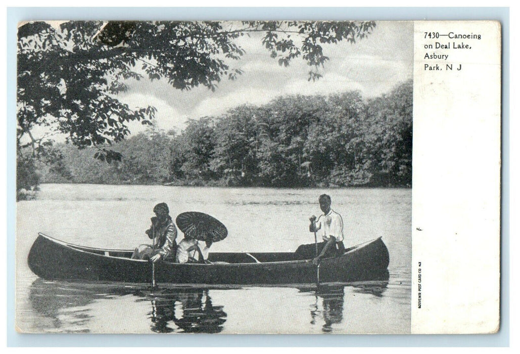
[[180, 231], [200, 241], [221, 241], [227, 236], [226, 226], [208, 214], [187, 211], [175, 219]]

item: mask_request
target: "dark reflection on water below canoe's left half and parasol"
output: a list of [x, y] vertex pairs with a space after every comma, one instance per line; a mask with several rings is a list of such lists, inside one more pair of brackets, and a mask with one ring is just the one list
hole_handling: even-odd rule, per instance
[[[150, 303], [150, 329], [158, 333], [218, 333], [223, 329], [227, 314], [222, 306], [214, 306], [209, 289], [162, 288], [148, 286], [85, 284], [35, 280], [30, 286], [32, 308], [50, 319], [61, 332], [89, 332], [87, 323], [94, 318], [92, 307], [99, 300], [135, 296], [136, 302]], [[67, 313], [67, 317], [63, 316]]]

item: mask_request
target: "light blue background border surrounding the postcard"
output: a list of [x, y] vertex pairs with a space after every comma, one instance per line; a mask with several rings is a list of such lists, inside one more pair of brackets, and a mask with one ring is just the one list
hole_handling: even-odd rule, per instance
[[[502, 225], [500, 331], [488, 335], [20, 334], [15, 331], [16, 28], [24, 20], [500, 20], [502, 23]], [[509, 346], [509, 8], [7, 8], [8, 347], [457, 347]], [[153, 339], [152, 339], [153, 338]]]

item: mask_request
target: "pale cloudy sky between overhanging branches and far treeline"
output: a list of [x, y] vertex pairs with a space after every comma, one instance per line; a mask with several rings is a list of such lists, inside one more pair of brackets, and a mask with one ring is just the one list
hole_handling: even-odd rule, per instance
[[[180, 132], [188, 119], [217, 116], [242, 105], [262, 105], [273, 98], [288, 94], [330, 94], [359, 90], [365, 98], [387, 93], [413, 75], [413, 22], [376, 22], [372, 34], [355, 44], [340, 42], [323, 46], [330, 58], [321, 70], [323, 77], [308, 81], [303, 59], [291, 61], [289, 67], [278, 65], [262, 47], [261, 35], [241, 37], [240, 45], [246, 54], [233, 68], [244, 73], [231, 81], [223, 79], [215, 92], [206, 87], [181, 91], [166, 80], [132, 80], [129, 90], [119, 99], [129, 107], [154, 106], [158, 109], [155, 124], [159, 129]], [[146, 127], [138, 122], [129, 126], [133, 134]]]

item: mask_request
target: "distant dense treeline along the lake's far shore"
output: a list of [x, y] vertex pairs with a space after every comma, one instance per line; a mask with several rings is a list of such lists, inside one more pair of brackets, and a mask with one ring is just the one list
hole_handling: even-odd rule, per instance
[[180, 134], [151, 128], [112, 149], [60, 144], [42, 182], [225, 186], [410, 186], [412, 82], [365, 100], [359, 92], [283, 96], [219, 117], [190, 120]]

